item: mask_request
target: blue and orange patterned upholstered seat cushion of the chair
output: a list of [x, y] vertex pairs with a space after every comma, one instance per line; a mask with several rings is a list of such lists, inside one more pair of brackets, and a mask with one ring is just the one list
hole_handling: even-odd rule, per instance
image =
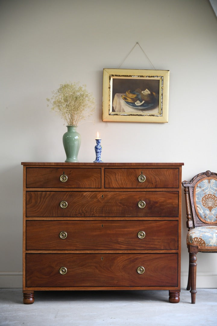
[[187, 245], [196, 245], [198, 250], [217, 251], [217, 226], [201, 226], [187, 233]]

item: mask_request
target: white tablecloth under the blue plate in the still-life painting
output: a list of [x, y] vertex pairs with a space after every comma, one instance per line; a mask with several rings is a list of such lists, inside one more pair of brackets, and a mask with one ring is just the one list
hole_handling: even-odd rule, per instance
[[115, 112], [132, 112], [132, 113], [146, 113], [146, 114], [157, 114], [158, 113], [158, 106], [154, 109], [139, 109], [139, 108], [133, 108], [126, 104], [126, 102], [123, 100], [121, 95], [124, 95], [122, 93], [116, 93], [112, 106], [114, 108]]

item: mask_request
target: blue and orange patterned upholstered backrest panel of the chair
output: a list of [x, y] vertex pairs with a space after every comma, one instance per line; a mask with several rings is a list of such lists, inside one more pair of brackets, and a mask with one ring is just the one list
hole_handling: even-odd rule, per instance
[[194, 188], [194, 205], [198, 218], [207, 224], [217, 223], [217, 180], [206, 177]]

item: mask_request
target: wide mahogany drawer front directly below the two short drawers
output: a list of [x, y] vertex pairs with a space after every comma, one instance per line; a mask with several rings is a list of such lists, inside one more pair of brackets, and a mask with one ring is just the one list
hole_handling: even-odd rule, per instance
[[[178, 216], [178, 191], [27, 191], [27, 217]], [[67, 207], [61, 208], [61, 202]], [[145, 202], [140, 208], [139, 202]], [[66, 204], [65, 204], [66, 206]]]

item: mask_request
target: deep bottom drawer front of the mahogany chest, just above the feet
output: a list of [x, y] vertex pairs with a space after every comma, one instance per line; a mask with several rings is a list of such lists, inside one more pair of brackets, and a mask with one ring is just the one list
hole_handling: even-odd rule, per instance
[[[26, 286], [177, 286], [177, 257], [171, 253], [26, 254]], [[143, 274], [137, 272], [140, 266]], [[61, 267], [66, 274], [60, 274]]]

